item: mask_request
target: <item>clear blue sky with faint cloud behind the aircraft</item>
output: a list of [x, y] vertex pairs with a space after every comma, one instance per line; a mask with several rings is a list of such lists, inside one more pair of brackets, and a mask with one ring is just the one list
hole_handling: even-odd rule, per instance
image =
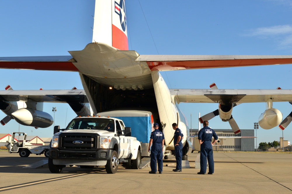
[[[0, 2], [0, 56], [69, 55], [92, 40], [94, 0]], [[142, 7], [142, 9], [141, 9]], [[142, 12], [143, 10], [143, 12]], [[126, 0], [129, 49], [139, 54], [179, 55], [291, 55], [292, 3], [288, 0], [157, 1]], [[147, 20], [147, 23], [146, 23]], [[150, 33], [151, 32], [151, 33]], [[291, 88], [291, 65], [238, 67], [161, 72], [169, 88], [206, 89], [215, 82], [221, 89]], [[82, 89], [76, 72], [0, 70], [1, 87], [14, 90]], [[265, 103], [236, 106], [233, 118], [240, 129], [253, 129], [265, 111]], [[47, 103], [44, 111], [57, 107], [55, 125], [65, 127], [76, 114], [67, 104]], [[188, 125], [198, 128], [198, 115], [214, 111], [218, 104], [180, 104]], [[285, 118], [288, 102], [274, 103]], [[6, 115], [0, 113], [0, 119]], [[209, 121], [213, 129], [230, 129], [220, 118]], [[284, 140], [292, 142], [292, 124]], [[51, 137], [46, 129], [25, 127], [11, 120], [0, 133], [26, 132]], [[31, 132], [33, 131], [33, 132]], [[279, 141], [282, 131], [259, 129], [257, 142]]]

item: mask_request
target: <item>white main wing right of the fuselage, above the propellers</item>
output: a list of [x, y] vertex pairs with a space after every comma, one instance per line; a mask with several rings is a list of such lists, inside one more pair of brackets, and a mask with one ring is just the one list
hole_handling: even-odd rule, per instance
[[170, 89], [178, 103], [251, 103], [291, 102], [292, 90], [251, 90], [251, 89]]

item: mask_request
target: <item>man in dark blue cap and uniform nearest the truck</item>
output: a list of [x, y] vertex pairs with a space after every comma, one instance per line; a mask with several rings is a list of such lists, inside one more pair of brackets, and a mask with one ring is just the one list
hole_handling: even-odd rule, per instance
[[148, 151], [150, 152], [151, 147], [151, 153], [150, 153], [150, 168], [151, 171], [149, 171], [150, 174], [156, 174], [157, 166], [156, 166], [156, 160], [158, 162], [158, 171], [159, 174], [162, 174], [162, 167], [163, 167], [163, 145], [164, 145], [164, 134], [159, 131], [158, 123], [155, 123], [153, 125], [154, 131], [150, 134], [150, 141], [149, 141], [149, 147]]

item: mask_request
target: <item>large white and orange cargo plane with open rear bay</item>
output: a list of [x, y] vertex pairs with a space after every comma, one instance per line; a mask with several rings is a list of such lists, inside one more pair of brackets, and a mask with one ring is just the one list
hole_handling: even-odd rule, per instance
[[[140, 55], [128, 50], [125, 9], [124, 0], [96, 0], [93, 41], [81, 51], [69, 51], [69, 56], [0, 58], [0, 68], [79, 72], [87, 98], [84, 93], [80, 95], [83, 91], [38, 91], [43, 92], [41, 95], [27, 91], [13, 95], [7, 90], [0, 93], [1, 110], [16, 101], [25, 100], [27, 108], [22, 110], [26, 111], [18, 114], [17, 118], [10, 112], [7, 115], [12, 115], [21, 124], [46, 127], [47, 115], [34, 104], [51, 99], [73, 105], [78, 102], [81, 108], [89, 102], [95, 115], [126, 107], [154, 109], [159, 115], [154, 122], [160, 123], [164, 130], [166, 149], [173, 149], [174, 130], [171, 124], [177, 122], [184, 134], [188, 132], [185, 117], [178, 108], [180, 102], [230, 106], [234, 103], [268, 102], [268, 109], [271, 109], [272, 102], [292, 101], [292, 90], [169, 90], [159, 71], [291, 64], [292, 56]], [[20, 108], [13, 107], [11, 112]], [[27, 117], [32, 120], [31, 124], [24, 122]], [[264, 119], [269, 123], [270, 117]], [[188, 144], [183, 142], [185, 153], [190, 147]]]

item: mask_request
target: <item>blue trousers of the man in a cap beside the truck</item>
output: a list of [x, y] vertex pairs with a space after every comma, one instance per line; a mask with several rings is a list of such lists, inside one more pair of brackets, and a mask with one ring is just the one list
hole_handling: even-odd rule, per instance
[[163, 153], [162, 153], [162, 145], [161, 143], [153, 143], [151, 146], [151, 153], [150, 153], [150, 168], [152, 172], [157, 171], [157, 164], [156, 160], [158, 162], [158, 171], [162, 172], [162, 167], [163, 167]]

